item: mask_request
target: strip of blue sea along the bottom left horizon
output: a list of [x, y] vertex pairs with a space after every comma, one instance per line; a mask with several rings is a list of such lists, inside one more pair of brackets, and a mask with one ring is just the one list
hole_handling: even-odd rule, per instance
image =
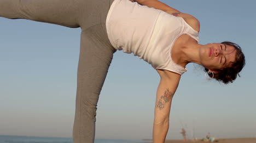
[[[147, 140], [95, 139], [94, 143], [139, 143]], [[0, 135], [0, 143], [73, 143], [72, 138]]]

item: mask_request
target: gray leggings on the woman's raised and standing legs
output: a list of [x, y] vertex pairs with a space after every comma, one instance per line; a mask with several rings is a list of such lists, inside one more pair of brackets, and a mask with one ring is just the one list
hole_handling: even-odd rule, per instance
[[116, 51], [108, 40], [106, 17], [114, 0], [0, 0], [0, 16], [81, 27], [74, 143], [92, 143], [96, 107]]

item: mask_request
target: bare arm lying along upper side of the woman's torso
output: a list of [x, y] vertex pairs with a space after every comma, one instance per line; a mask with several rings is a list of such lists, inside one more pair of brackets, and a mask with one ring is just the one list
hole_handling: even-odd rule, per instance
[[165, 3], [162, 3], [157, 0], [130, 0], [130, 1], [137, 2], [138, 4], [141, 4], [141, 5], [146, 5], [149, 8], [155, 8], [155, 9], [165, 11], [168, 14], [181, 13], [177, 9], [171, 8]]

